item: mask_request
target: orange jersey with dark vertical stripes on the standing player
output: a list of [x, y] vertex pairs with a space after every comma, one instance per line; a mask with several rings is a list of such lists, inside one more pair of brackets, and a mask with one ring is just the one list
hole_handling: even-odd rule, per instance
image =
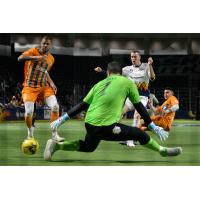
[[[23, 53], [25, 56], [41, 56], [39, 49], [31, 48]], [[54, 57], [48, 53], [45, 62], [26, 61], [24, 66], [24, 86], [38, 88], [48, 86], [45, 71], [49, 71], [54, 63]]]

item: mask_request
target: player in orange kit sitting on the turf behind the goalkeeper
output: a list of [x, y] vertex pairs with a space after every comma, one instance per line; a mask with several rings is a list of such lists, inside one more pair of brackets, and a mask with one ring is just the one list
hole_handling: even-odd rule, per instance
[[[170, 87], [165, 88], [164, 98], [166, 101], [159, 107], [154, 107], [152, 102], [149, 103], [149, 107], [154, 113], [154, 115], [151, 116], [151, 120], [157, 126], [162, 127], [166, 131], [170, 131], [175, 112], [179, 109], [179, 102]], [[142, 127], [142, 129], [145, 130], [145, 127]]]

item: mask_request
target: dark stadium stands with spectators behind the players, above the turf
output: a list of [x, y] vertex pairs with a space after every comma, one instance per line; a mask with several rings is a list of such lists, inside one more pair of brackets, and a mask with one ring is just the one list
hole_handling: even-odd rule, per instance
[[[23, 65], [17, 57], [40, 43], [45, 34], [0, 34], [0, 103], [8, 104], [19, 93], [23, 82]], [[53, 39], [55, 64], [50, 75], [58, 87], [58, 101], [63, 110], [75, 105], [102, 77], [95, 66], [106, 69], [109, 61], [130, 65], [130, 50], [154, 59], [156, 80], [150, 83], [163, 102], [163, 89], [170, 86], [180, 101], [176, 118], [199, 119], [200, 34], [48, 34]], [[197, 112], [197, 113], [196, 113]]]

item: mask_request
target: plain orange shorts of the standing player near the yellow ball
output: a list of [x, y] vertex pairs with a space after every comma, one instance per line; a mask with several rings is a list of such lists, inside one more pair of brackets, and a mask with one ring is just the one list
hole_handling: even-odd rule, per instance
[[51, 87], [41, 87], [41, 88], [32, 88], [32, 87], [24, 87], [22, 90], [22, 98], [23, 102], [31, 101], [36, 102], [37, 99], [45, 100], [47, 97], [50, 97], [54, 94], [54, 91]]

